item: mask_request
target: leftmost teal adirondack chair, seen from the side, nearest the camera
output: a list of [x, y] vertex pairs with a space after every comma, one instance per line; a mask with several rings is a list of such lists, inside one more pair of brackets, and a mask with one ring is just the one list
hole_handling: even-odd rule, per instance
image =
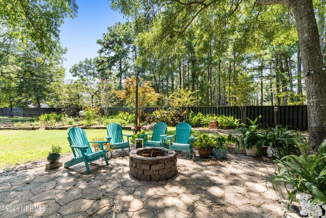
[[[91, 173], [88, 163], [100, 158], [104, 158], [106, 165], [108, 165], [106, 151], [103, 149], [102, 144], [110, 141], [88, 141], [85, 130], [76, 127], [68, 131], [68, 141], [74, 158], [64, 163], [65, 168], [84, 162], [87, 172]], [[98, 143], [101, 151], [93, 152], [90, 143]]]

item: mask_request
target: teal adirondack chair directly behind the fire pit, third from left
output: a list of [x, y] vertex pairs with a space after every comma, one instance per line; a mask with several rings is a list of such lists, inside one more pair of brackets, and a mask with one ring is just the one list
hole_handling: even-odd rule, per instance
[[164, 137], [167, 136], [168, 125], [163, 122], [159, 122], [154, 125], [153, 132], [148, 134], [141, 134], [140, 137], [146, 138], [152, 135], [151, 140], [144, 141], [143, 147], [166, 147], [164, 143]]

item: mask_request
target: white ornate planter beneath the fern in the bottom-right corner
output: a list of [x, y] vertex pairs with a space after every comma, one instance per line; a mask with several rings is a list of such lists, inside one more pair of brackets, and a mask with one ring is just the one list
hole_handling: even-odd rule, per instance
[[326, 210], [326, 204], [321, 201], [316, 201], [316, 203], [311, 204], [313, 197], [312, 195], [302, 193], [301, 196], [296, 196], [300, 202], [302, 210], [308, 213], [309, 218], [325, 218], [326, 214], [322, 213], [322, 208]]

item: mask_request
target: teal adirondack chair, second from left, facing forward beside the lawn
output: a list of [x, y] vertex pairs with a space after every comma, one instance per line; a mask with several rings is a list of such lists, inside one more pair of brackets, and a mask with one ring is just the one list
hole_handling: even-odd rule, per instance
[[[107, 131], [107, 140], [111, 138], [111, 147], [112, 149], [129, 149], [130, 152], [130, 144], [129, 144], [129, 137], [131, 135], [124, 135], [122, 134], [122, 127], [119, 124], [113, 123], [109, 124], [106, 127]], [[127, 136], [127, 141], [123, 141], [123, 136]], [[110, 151], [111, 158], [112, 158], [112, 150]]]

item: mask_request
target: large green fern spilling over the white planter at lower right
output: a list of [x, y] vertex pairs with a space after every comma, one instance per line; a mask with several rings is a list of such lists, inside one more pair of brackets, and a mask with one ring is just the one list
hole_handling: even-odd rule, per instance
[[[319, 153], [309, 149], [305, 138], [298, 141], [298, 148], [300, 156], [288, 155], [275, 160], [277, 171], [268, 180], [276, 190], [284, 186], [290, 201], [296, 201], [297, 193], [309, 193], [314, 197], [312, 203], [317, 200], [326, 203], [326, 141], [321, 143]], [[288, 185], [292, 187], [288, 188]]]

